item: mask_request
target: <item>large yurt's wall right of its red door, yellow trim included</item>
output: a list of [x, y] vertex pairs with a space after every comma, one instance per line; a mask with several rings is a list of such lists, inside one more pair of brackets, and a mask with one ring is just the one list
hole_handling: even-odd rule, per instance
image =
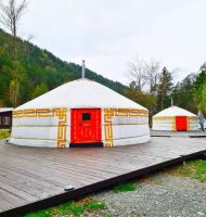
[[146, 110], [105, 108], [105, 146], [142, 143], [150, 140]]

